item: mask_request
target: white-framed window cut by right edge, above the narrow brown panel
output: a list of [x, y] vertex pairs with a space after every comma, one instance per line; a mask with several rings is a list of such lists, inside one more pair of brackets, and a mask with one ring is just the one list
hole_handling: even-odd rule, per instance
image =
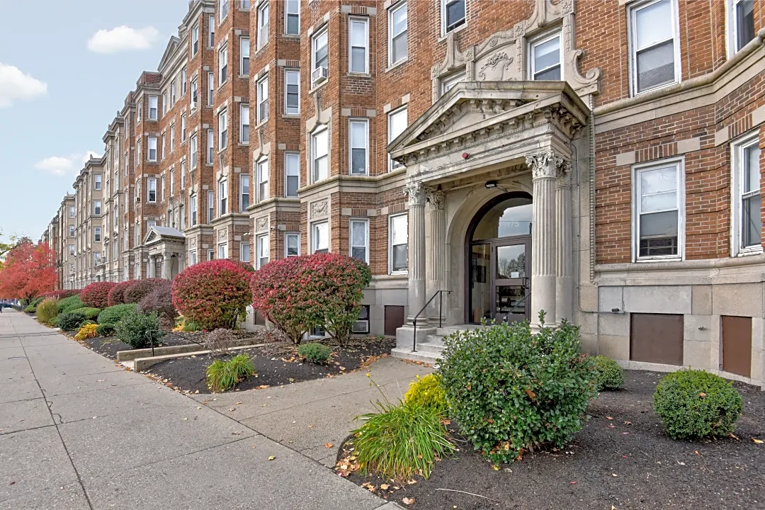
[[733, 256], [763, 251], [759, 144], [758, 132], [744, 136], [731, 144]]

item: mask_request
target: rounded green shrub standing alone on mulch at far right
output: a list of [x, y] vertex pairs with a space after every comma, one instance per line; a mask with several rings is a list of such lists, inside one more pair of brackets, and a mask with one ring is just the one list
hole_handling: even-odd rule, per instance
[[679, 370], [662, 378], [653, 408], [674, 439], [724, 436], [741, 416], [741, 395], [731, 382], [703, 370]]

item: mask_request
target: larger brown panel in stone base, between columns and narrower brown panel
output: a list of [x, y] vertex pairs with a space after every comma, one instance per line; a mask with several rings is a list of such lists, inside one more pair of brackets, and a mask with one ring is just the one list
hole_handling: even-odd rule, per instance
[[630, 359], [666, 365], [682, 365], [682, 315], [632, 313]]

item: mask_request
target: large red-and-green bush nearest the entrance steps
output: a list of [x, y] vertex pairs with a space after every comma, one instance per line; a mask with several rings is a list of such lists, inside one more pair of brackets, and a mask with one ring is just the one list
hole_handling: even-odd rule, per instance
[[343, 342], [361, 311], [362, 291], [372, 281], [363, 261], [337, 253], [272, 261], [252, 275], [252, 306], [300, 343], [314, 326]]

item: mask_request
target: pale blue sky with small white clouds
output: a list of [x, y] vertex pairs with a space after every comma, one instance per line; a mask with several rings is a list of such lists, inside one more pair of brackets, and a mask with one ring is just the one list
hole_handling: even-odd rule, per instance
[[0, 231], [39, 239], [187, 0], [0, 0]]

